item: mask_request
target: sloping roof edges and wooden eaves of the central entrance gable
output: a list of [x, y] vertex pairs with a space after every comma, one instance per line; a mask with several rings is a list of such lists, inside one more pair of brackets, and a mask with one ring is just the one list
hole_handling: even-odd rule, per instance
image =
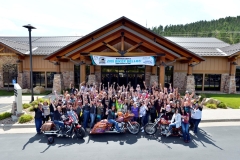
[[[121, 27], [121, 28], [119, 28], [119, 27]], [[56, 59], [56, 56], [68, 56], [70, 58], [72, 58], [72, 57], [76, 58], [76, 56], [73, 56], [73, 55], [80, 54], [80, 52], [86, 51], [87, 48], [90, 48], [90, 47], [93, 48], [92, 45], [94, 45], [94, 44], [100, 45], [101, 41], [104, 41], [105, 39], [108, 38], [107, 36], [104, 36], [104, 35], [108, 34], [109, 32], [111, 32], [113, 30], [116, 30], [116, 31], [113, 32], [109, 36], [113, 36], [113, 35], [116, 36], [116, 34], [118, 34], [119, 37], [121, 37], [118, 32], [124, 32], [124, 33], [127, 32], [127, 34], [124, 34], [124, 36], [126, 36], [126, 37], [128, 36], [127, 38], [129, 38], [129, 39], [131, 39], [131, 38], [135, 39], [136, 43], [137, 42], [139, 43], [139, 41], [142, 40], [142, 41], [144, 41], [143, 45], [145, 43], [147, 43], [150, 46], [152, 46], [153, 48], [157, 48], [156, 50], [158, 50], [158, 51], [161, 50], [160, 52], [163, 52], [163, 53], [166, 52], [167, 54], [169, 54], [171, 56], [174, 56], [174, 54], [178, 54], [177, 57], [187, 56], [187, 57], [192, 57], [194, 61], [204, 61], [204, 59], [201, 56], [191, 52], [190, 50], [187, 50], [186, 48], [178, 45], [177, 43], [174, 43], [174, 42], [168, 40], [167, 38], [164, 38], [162, 36], [155, 34], [154, 32], [150, 31], [146, 27], [141, 26], [140, 24], [138, 24], [126, 17], [121, 17], [121, 18], [93, 31], [92, 33], [90, 33], [90, 34], [76, 40], [75, 42], [72, 42], [72, 43], [68, 44], [67, 46], [59, 49], [58, 51], [46, 56], [45, 59], [54, 60], [54, 58]], [[116, 36], [115, 39], [117, 39], [119, 37]], [[114, 39], [111, 39], [111, 40], [109, 40], [109, 42], [113, 41], [113, 40]], [[93, 42], [93, 41], [95, 41], [95, 42]]]

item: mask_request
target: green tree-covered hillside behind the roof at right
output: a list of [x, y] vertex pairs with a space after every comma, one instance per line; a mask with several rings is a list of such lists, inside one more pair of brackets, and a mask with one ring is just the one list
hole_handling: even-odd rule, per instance
[[226, 17], [211, 21], [198, 21], [189, 24], [162, 25], [149, 28], [162, 36], [216, 37], [224, 42], [240, 42], [240, 16]]

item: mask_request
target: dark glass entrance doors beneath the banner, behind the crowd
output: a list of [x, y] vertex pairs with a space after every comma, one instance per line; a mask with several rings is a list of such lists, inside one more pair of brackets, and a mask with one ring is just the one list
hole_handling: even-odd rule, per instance
[[137, 84], [143, 87], [145, 80], [145, 66], [102, 66], [102, 83], [104, 86], [118, 83], [120, 86], [131, 83], [136, 88]]

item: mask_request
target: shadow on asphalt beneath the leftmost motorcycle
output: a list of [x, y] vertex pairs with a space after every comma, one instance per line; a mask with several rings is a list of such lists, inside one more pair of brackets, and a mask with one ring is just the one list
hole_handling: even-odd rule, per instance
[[48, 144], [48, 137], [44, 134], [36, 134], [33, 137], [31, 137], [24, 145], [22, 150], [25, 150], [26, 147], [34, 142], [39, 142], [39, 143], [45, 143], [47, 145], [47, 148], [44, 149], [42, 152], [40, 153], [44, 153], [45, 151], [47, 151], [51, 146], [57, 146], [60, 147], [67, 147], [67, 146], [71, 146], [73, 144], [82, 144], [85, 142], [84, 139], [78, 139], [75, 136], [73, 138], [71, 137], [54, 137], [54, 143], [53, 144]]

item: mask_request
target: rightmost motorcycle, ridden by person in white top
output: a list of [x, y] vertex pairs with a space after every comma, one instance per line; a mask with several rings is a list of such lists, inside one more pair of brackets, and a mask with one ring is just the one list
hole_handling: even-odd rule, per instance
[[[157, 127], [160, 129], [160, 134], [166, 136], [171, 122], [164, 116], [160, 116], [154, 123], [148, 123], [144, 126], [144, 132], [149, 135], [153, 135], [157, 132]], [[182, 128], [172, 128], [171, 136], [182, 136]]]

